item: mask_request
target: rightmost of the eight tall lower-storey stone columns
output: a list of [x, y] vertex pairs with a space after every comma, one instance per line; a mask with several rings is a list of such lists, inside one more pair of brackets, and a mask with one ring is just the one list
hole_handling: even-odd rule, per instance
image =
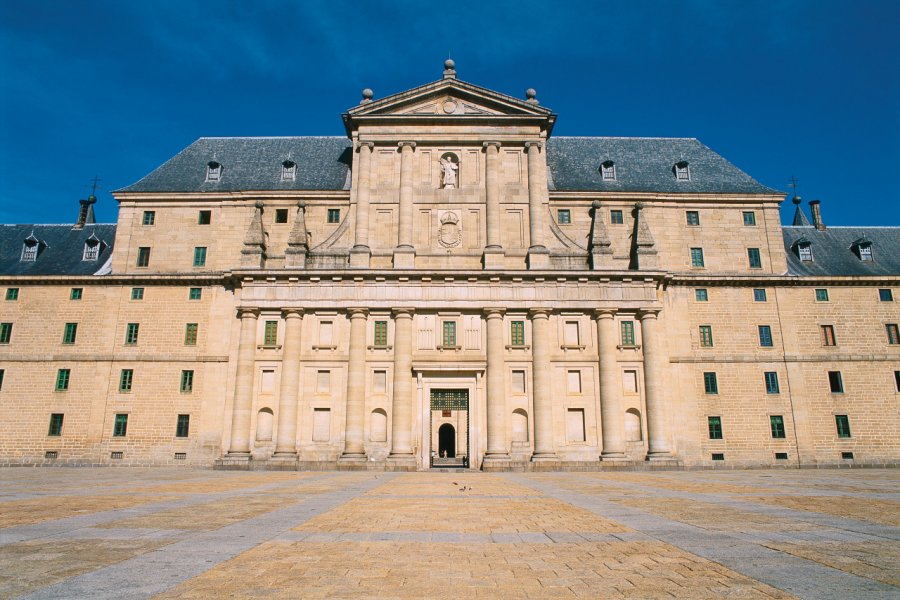
[[644, 350], [644, 393], [647, 400], [648, 460], [672, 460], [669, 448], [669, 424], [666, 416], [666, 382], [659, 334], [656, 332], [659, 310], [642, 310], [641, 337]]

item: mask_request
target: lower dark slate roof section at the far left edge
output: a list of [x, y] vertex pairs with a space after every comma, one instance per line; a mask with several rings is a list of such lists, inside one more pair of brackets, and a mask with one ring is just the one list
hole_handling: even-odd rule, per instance
[[[40, 251], [34, 262], [23, 261], [22, 245], [34, 235]], [[82, 260], [84, 243], [92, 235], [100, 242], [97, 260]], [[0, 225], [0, 275], [93, 275], [112, 255], [116, 226], [112, 224], [85, 225]]]

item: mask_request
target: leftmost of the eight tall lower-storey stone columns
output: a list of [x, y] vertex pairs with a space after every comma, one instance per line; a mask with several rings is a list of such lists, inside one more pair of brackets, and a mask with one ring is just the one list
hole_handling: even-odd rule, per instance
[[228, 458], [250, 458], [250, 410], [253, 407], [253, 370], [256, 363], [256, 323], [259, 310], [239, 309], [241, 336], [238, 340], [237, 376], [231, 418]]

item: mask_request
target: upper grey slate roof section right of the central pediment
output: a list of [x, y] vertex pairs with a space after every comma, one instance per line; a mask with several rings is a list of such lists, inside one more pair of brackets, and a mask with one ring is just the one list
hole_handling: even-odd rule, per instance
[[[615, 181], [603, 181], [611, 160]], [[689, 181], [675, 178], [685, 161]], [[779, 194], [694, 138], [553, 137], [547, 141], [551, 190]]]

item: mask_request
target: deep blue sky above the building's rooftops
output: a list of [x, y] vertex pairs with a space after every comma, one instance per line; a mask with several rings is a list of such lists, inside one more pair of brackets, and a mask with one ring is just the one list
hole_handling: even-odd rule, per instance
[[73, 221], [95, 174], [112, 222], [201, 136], [343, 135], [448, 52], [555, 135], [697, 137], [828, 224], [900, 225], [896, 0], [0, 0], [0, 223]]

